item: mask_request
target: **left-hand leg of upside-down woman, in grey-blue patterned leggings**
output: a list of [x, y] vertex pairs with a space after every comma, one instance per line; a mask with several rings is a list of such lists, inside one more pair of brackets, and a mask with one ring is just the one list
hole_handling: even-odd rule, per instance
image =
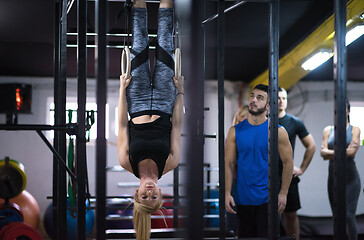
[[127, 89], [129, 114], [149, 110], [151, 106], [149, 37], [145, 0], [134, 1], [133, 46], [130, 51], [132, 80]]

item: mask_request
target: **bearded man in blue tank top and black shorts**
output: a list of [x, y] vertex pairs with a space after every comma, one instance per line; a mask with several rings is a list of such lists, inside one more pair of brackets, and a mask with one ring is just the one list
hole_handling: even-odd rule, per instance
[[[250, 95], [248, 118], [231, 127], [226, 139], [225, 208], [237, 214], [239, 238], [268, 237], [268, 108], [268, 86], [259, 84]], [[277, 207], [282, 213], [293, 171], [292, 147], [283, 127], [278, 128], [278, 151], [283, 173]]]

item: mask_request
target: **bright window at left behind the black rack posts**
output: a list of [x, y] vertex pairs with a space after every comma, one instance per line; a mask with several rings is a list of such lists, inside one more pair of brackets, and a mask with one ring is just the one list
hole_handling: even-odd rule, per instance
[[[53, 125], [54, 124], [54, 103], [53, 102], [50, 103], [49, 109], [50, 109], [49, 124]], [[73, 110], [71, 122], [76, 123], [77, 122], [77, 103], [76, 102], [66, 103], [66, 111], [67, 110]], [[97, 104], [95, 102], [86, 103], [86, 111], [91, 111], [91, 110], [95, 111], [95, 113], [94, 113], [95, 122], [91, 126], [90, 133], [86, 132], [86, 137], [90, 136], [90, 139], [94, 140], [97, 137]], [[109, 104], [106, 104], [105, 115], [106, 115], [105, 116], [106, 117], [105, 136], [106, 136], [106, 139], [108, 139], [109, 138]], [[67, 111], [66, 123], [69, 123], [68, 120], [69, 120], [69, 113]], [[53, 131], [50, 131], [50, 137], [51, 138], [54, 137]]]

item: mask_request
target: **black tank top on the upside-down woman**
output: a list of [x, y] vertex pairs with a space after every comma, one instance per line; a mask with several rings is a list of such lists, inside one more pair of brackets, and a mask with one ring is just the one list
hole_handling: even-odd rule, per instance
[[134, 175], [139, 178], [138, 164], [152, 159], [162, 177], [171, 147], [172, 123], [169, 116], [161, 115], [150, 123], [134, 124], [129, 121], [129, 161]]

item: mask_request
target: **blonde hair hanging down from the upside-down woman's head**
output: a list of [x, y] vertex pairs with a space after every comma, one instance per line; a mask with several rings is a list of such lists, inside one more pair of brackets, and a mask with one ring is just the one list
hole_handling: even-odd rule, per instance
[[150, 207], [141, 204], [138, 199], [138, 194], [134, 195], [133, 207], [133, 224], [137, 240], [148, 240], [151, 230], [151, 214], [155, 213], [162, 207], [162, 197], [158, 199], [155, 207]]

